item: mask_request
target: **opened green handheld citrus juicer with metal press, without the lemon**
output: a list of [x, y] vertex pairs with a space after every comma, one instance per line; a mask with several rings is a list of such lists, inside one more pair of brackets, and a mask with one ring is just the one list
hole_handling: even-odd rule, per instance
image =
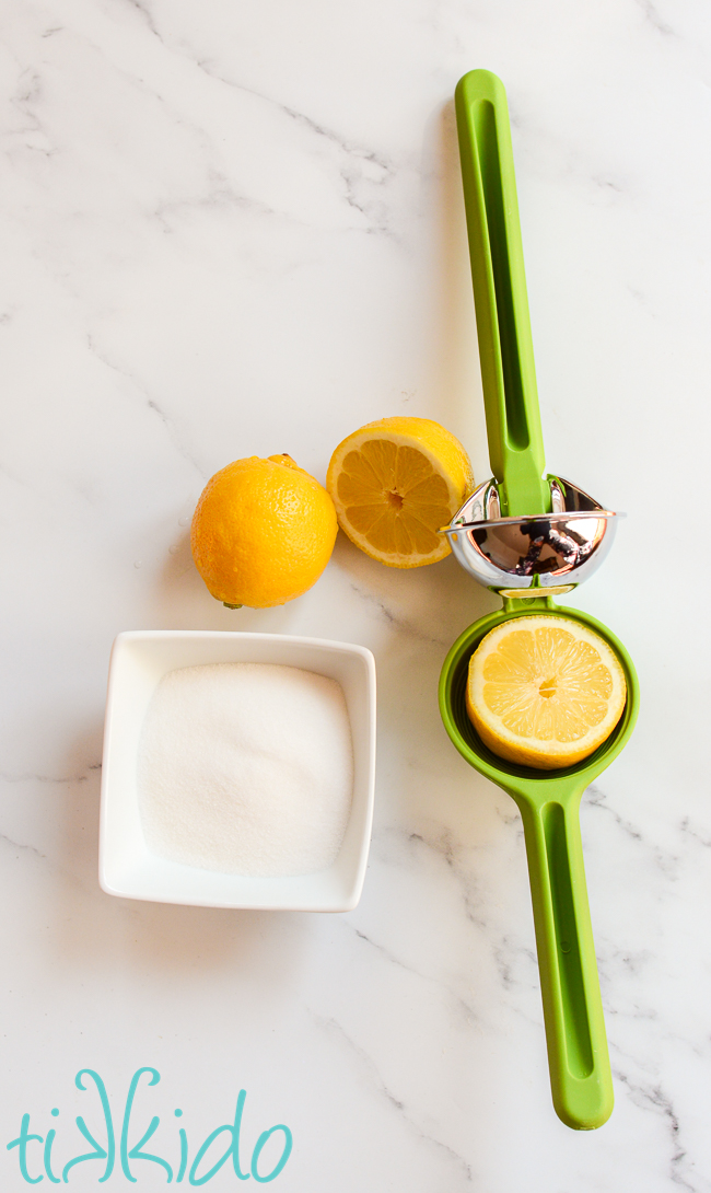
[[[587, 900], [579, 809], [586, 787], [629, 740], [638, 685], [627, 651], [606, 626], [552, 598], [589, 576], [610, 550], [617, 518], [562, 477], [543, 477], [544, 453], [503, 85], [472, 70], [456, 91], [457, 128], [474, 279], [487, 438], [494, 477], [441, 533], [459, 563], [503, 599], [450, 650], [439, 705], [459, 753], [508, 792], [524, 823], [536, 945], [556, 1113], [592, 1130], [612, 1113], [605, 1020]], [[509, 619], [573, 619], [599, 633], [624, 670], [627, 698], [611, 736], [574, 766], [538, 771], [489, 750], [466, 713], [469, 661]]]

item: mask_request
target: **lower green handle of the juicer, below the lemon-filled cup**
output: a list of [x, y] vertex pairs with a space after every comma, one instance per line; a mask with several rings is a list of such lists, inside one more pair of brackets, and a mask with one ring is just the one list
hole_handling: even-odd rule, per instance
[[613, 1094], [580, 839], [581, 795], [544, 803], [514, 798], [526, 837], [554, 1106], [568, 1126], [589, 1131], [612, 1114]]

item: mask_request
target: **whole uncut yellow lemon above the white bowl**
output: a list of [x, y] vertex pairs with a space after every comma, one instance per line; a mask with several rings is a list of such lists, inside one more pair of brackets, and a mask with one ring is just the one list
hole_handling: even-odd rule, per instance
[[192, 519], [192, 557], [217, 600], [267, 608], [316, 583], [336, 531], [328, 493], [290, 456], [251, 456], [208, 481]]

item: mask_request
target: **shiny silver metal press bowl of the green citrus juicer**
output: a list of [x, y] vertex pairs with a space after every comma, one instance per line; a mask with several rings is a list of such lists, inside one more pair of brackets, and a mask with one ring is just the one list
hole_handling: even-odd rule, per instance
[[550, 514], [502, 518], [496, 481], [466, 499], [449, 526], [450, 546], [480, 585], [503, 596], [569, 592], [600, 567], [617, 519], [570, 481], [549, 476]]

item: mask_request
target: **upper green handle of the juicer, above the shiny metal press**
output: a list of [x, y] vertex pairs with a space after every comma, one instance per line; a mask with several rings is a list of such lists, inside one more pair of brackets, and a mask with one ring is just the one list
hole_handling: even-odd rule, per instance
[[455, 93], [491, 470], [502, 514], [550, 513], [508, 105], [471, 70]]

